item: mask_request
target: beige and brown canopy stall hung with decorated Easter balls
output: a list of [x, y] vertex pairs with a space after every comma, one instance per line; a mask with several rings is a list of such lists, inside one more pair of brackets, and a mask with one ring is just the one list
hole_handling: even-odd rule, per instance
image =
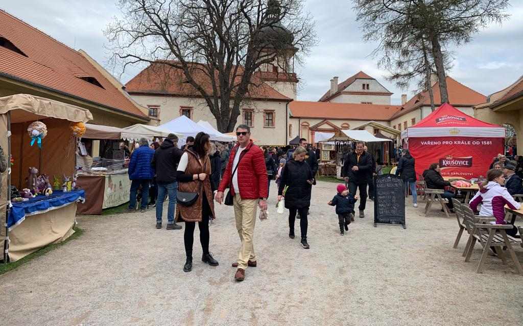
[[[6, 225], [10, 210], [10, 186], [18, 189], [24, 184], [30, 166], [36, 166], [47, 175], [72, 175], [75, 165], [76, 139], [71, 122], [93, 119], [85, 108], [28, 94], [0, 98], [0, 146], [14, 159], [14, 165], [2, 173], [0, 212], [5, 213]], [[48, 135], [42, 140], [42, 150], [30, 146], [27, 127], [35, 120], [47, 126]], [[25, 187], [24, 187], [25, 188]], [[14, 261], [74, 233], [76, 203], [67, 207], [31, 216], [14, 230], [0, 230], [3, 239], [4, 262]], [[36, 218], [38, 217], [38, 218]], [[8, 236], [9, 235], [9, 236]]]

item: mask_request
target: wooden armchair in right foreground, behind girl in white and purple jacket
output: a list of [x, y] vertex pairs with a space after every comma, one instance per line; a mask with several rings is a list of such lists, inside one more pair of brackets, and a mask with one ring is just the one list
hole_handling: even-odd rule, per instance
[[[474, 250], [474, 245], [476, 242], [479, 242], [483, 247], [483, 252], [479, 264], [477, 265], [477, 273], [481, 273], [483, 270], [483, 263], [488, 256], [488, 251], [491, 247], [494, 247], [497, 255], [503, 261], [503, 264], [507, 263], [505, 257], [505, 252], [503, 247], [507, 248], [507, 251], [510, 253], [516, 269], [520, 274], [523, 274], [523, 268], [519, 263], [519, 260], [514, 252], [513, 244], [520, 244], [520, 240], [507, 236], [505, 230], [512, 228], [511, 224], [482, 224], [485, 222], [490, 222], [492, 217], [476, 217], [472, 210], [468, 207], [461, 207], [463, 211], [463, 218], [465, 224], [467, 224], [467, 229], [472, 228], [469, 236], [469, 242], [465, 248], [465, 262], [470, 261], [470, 256]], [[495, 219], [494, 219], [495, 220]]]

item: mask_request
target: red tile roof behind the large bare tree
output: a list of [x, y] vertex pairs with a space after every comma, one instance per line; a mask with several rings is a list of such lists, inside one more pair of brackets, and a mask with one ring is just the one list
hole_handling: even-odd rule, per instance
[[[199, 64], [194, 64], [199, 65]], [[240, 70], [240, 69], [238, 69]], [[241, 74], [241, 71], [238, 71]], [[192, 71], [193, 78], [212, 93], [209, 78], [201, 70]], [[240, 78], [240, 77], [237, 77]], [[257, 75], [253, 75], [251, 82], [256, 86], [249, 87], [248, 98], [259, 100], [292, 101], [292, 99], [281, 94], [268, 84], [263, 82]], [[175, 96], [200, 97], [200, 93], [186, 82], [185, 75], [181, 69], [156, 62], [143, 69], [137, 76], [126, 84], [126, 90], [130, 94], [164, 94]]]

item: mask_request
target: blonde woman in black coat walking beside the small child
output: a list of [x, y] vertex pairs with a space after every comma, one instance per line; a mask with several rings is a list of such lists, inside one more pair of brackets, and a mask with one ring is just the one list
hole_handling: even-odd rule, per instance
[[280, 177], [280, 187], [278, 189], [278, 200], [283, 198], [283, 189], [289, 186], [285, 192], [285, 208], [289, 210], [289, 237], [294, 239], [294, 221], [296, 214], [300, 213], [301, 245], [309, 249], [307, 243], [307, 214], [311, 206], [311, 189], [314, 183], [309, 164], [305, 162], [307, 150], [298, 147], [292, 157], [294, 160], [288, 161]]

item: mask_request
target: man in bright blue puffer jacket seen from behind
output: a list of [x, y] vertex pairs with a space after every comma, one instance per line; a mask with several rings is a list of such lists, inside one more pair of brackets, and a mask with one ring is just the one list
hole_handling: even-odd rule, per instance
[[129, 194], [129, 212], [134, 212], [136, 207], [136, 196], [138, 188], [142, 186], [142, 203], [140, 212], [144, 213], [149, 201], [149, 183], [154, 177], [151, 166], [154, 150], [149, 147], [147, 139], [140, 138], [140, 147], [131, 154], [129, 162], [129, 179], [131, 180], [131, 192]]

